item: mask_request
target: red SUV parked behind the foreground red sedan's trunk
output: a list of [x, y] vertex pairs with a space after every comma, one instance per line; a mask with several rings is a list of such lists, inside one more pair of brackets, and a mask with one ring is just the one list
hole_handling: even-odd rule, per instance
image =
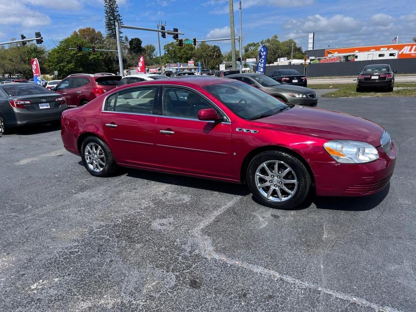
[[51, 90], [62, 94], [68, 107], [75, 107], [87, 104], [99, 95], [123, 84], [125, 82], [121, 80], [121, 76], [109, 73], [72, 74], [56, 87], [51, 87]]

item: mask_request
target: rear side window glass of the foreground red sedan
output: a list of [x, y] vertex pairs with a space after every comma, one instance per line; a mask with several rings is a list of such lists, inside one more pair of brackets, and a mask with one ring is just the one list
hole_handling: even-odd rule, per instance
[[[131, 88], [120, 91], [115, 101], [115, 111], [123, 113], [153, 114], [153, 103], [156, 87]], [[112, 95], [107, 101], [107, 108], [111, 108]], [[109, 109], [110, 110], [110, 109]]]

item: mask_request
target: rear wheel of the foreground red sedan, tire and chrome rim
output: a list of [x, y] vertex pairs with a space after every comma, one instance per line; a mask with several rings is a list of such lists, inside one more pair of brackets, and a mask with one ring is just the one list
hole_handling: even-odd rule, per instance
[[81, 147], [82, 162], [93, 176], [111, 176], [116, 170], [116, 162], [110, 148], [102, 139], [88, 136]]

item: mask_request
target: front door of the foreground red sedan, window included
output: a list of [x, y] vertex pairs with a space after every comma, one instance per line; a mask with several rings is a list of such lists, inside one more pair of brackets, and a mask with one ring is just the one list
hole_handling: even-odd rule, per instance
[[[232, 179], [231, 124], [202, 94], [185, 87], [160, 91], [156, 123], [158, 163], [170, 171]], [[214, 108], [222, 121], [198, 120], [198, 111]]]

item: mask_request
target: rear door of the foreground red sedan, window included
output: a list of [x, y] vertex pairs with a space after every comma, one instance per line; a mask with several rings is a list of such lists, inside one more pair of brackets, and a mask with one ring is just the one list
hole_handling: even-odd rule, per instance
[[123, 89], [107, 97], [101, 126], [117, 163], [152, 166], [156, 162], [156, 114], [158, 87]]

